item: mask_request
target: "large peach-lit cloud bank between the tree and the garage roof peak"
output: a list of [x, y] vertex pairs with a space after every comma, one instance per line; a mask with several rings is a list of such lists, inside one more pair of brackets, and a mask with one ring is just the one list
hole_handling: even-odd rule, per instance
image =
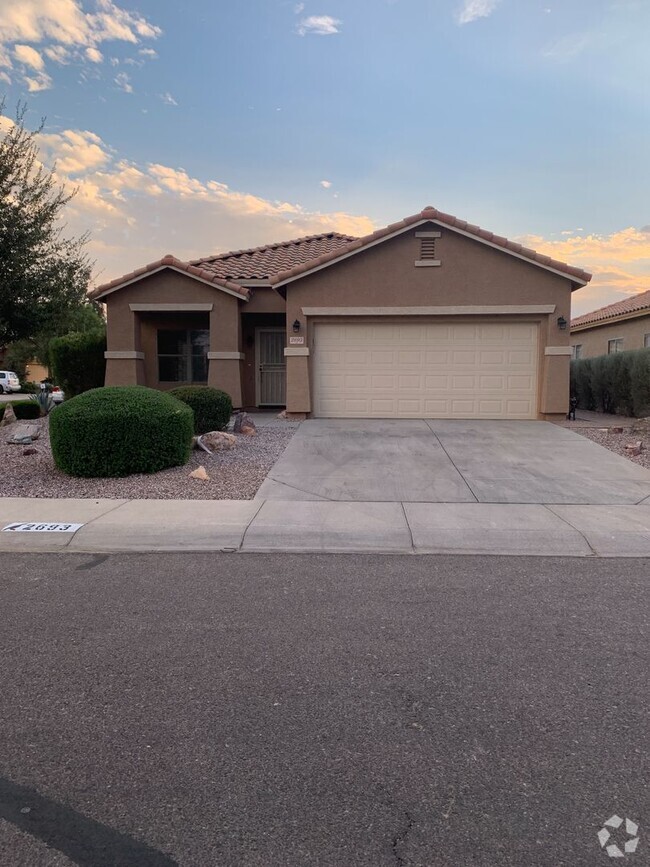
[[[2, 130], [11, 119], [0, 116]], [[367, 235], [366, 216], [309, 211], [295, 202], [233, 190], [180, 167], [124, 159], [89, 130], [39, 136], [40, 155], [77, 195], [66, 206], [67, 230], [90, 231], [96, 282], [173, 252], [184, 259], [321, 232]]]

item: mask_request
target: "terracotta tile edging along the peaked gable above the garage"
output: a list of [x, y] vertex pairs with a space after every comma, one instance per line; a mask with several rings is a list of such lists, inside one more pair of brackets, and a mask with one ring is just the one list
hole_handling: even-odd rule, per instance
[[381, 238], [392, 235], [394, 232], [400, 231], [400, 229], [404, 229], [415, 223], [420, 223], [422, 220], [436, 220], [437, 222], [443, 223], [452, 228], [461, 229], [463, 232], [467, 232], [469, 235], [473, 235], [481, 241], [489, 241], [491, 244], [503, 247], [503, 249], [508, 252], [516, 253], [519, 256], [523, 256], [525, 259], [530, 259], [531, 262], [538, 265], [544, 265], [547, 268], [554, 268], [556, 271], [561, 271], [569, 277], [575, 278], [575, 280], [580, 283], [588, 283], [591, 280], [591, 274], [587, 271], [583, 271], [581, 268], [576, 268], [573, 265], [567, 265], [565, 262], [559, 262], [557, 259], [551, 259], [550, 256], [536, 253], [535, 250], [530, 250], [521, 244], [517, 244], [515, 241], [509, 241], [507, 238], [503, 238], [500, 235], [495, 235], [493, 232], [481, 229], [480, 226], [473, 226], [465, 220], [459, 220], [458, 217], [454, 217], [451, 214], [445, 214], [429, 205], [424, 208], [423, 211], [420, 211], [419, 214], [405, 217], [403, 220], [400, 220], [397, 223], [392, 223], [384, 229], [378, 229], [376, 232], [373, 232], [371, 235], [366, 235], [364, 238], [356, 238], [345, 246], [325, 251], [316, 259], [296, 263], [290, 268], [287, 268], [287, 270], [277, 273], [271, 278], [271, 283], [281, 283], [285, 280], [304, 274], [312, 268], [327, 265], [330, 262], [336, 261], [340, 256], [353, 253], [355, 250], [359, 250], [367, 244], [371, 244], [373, 241], [378, 241]]

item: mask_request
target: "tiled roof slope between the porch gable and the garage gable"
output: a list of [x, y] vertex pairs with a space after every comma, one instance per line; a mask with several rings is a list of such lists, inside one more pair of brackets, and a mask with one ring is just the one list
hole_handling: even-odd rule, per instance
[[233, 250], [217, 256], [192, 260], [206, 271], [232, 280], [266, 280], [290, 268], [305, 265], [330, 253], [336, 253], [355, 239], [351, 235], [328, 232], [308, 235], [294, 241], [266, 244], [249, 250]]

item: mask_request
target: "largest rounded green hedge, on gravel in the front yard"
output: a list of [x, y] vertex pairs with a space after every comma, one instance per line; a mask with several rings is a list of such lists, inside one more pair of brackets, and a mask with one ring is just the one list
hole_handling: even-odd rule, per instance
[[194, 433], [189, 407], [141, 385], [93, 388], [50, 416], [54, 463], [70, 476], [155, 473], [186, 464]]

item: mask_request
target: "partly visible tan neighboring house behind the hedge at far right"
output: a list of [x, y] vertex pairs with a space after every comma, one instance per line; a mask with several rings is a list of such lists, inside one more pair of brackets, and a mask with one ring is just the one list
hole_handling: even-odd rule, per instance
[[631, 295], [571, 321], [573, 358], [650, 347], [650, 291]]

